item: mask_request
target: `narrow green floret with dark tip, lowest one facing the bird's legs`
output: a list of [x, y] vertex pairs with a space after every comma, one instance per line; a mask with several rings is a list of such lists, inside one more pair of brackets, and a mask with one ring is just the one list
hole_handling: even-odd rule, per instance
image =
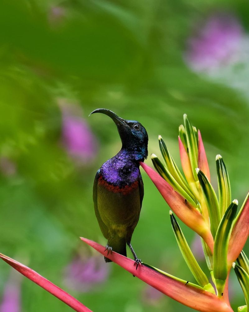
[[197, 283], [202, 286], [205, 290], [208, 290], [215, 294], [215, 291], [213, 289], [213, 286], [209, 283], [207, 276], [200, 268], [198, 262], [196, 261], [191, 249], [189, 248], [189, 245], [183, 235], [183, 232], [177, 223], [173, 213], [170, 211], [170, 221], [172, 224], [173, 231], [175, 233], [175, 238], [177, 241], [177, 244], [180, 248], [180, 251], [182, 253], [182, 256], [187, 263], [189, 270], [194, 275], [195, 280]]

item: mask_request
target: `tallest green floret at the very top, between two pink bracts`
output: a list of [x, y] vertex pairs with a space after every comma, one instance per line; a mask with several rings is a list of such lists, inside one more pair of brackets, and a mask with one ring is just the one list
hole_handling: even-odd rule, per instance
[[198, 145], [197, 145], [196, 135], [195, 135], [193, 126], [190, 124], [186, 114], [183, 115], [183, 118], [184, 118], [185, 130], [186, 130], [191, 168], [192, 168], [195, 181], [198, 181], [196, 171], [195, 171], [195, 168], [198, 167]]

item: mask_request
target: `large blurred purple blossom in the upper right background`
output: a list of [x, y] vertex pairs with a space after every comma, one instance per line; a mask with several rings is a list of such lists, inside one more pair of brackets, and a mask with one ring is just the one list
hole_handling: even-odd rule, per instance
[[215, 13], [187, 42], [185, 60], [194, 71], [212, 72], [241, 58], [244, 32], [238, 19], [229, 13]]

